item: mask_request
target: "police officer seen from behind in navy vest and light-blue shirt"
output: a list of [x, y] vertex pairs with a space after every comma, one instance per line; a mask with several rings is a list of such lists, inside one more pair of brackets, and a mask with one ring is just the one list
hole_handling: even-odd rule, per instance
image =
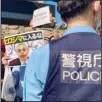
[[100, 1], [59, 0], [64, 36], [34, 50], [24, 77], [24, 101], [101, 101]]

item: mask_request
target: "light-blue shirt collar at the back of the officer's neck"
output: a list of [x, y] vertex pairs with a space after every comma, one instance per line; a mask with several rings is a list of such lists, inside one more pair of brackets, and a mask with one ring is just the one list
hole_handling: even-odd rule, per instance
[[76, 27], [67, 29], [64, 35], [76, 33], [76, 32], [89, 32], [89, 33], [97, 34], [97, 32], [90, 26], [76, 26]]

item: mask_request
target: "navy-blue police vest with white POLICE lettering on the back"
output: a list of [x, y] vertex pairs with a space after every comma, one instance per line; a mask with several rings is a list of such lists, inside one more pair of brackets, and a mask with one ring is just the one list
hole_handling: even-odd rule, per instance
[[50, 61], [42, 101], [101, 100], [101, 38], [68, 34], [50, 42]]

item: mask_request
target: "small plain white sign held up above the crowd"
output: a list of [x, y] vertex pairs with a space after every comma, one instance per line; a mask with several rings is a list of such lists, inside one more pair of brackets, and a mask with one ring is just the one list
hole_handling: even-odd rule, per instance
[[33, 27], [45, 25], [50, 23], [50, 7], [42, 7], [33, 12]]

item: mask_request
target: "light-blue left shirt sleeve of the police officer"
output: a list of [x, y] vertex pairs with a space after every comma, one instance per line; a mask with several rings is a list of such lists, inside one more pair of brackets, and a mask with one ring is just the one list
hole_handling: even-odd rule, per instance
[[24, 77], [23, 101], [41, 101], [49, 67], [49, 45], [31, 54]]

